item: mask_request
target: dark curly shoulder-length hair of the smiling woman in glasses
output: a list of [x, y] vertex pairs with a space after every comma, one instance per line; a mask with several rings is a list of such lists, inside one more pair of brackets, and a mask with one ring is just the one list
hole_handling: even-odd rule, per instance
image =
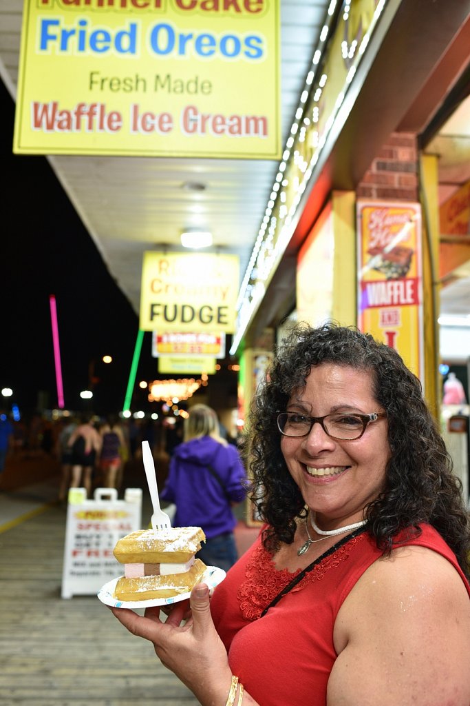
[[280, 450], [276, 423], [292, 392], [304, 388], [311, 366], [347, 365], [373, 376], [373, 393], [388, 418], [391, 456], [385, 489], [369, 503], [365, 517], [377, 545], [389, 554], [395, 535], [428, 522], [470, 575], [470, 522], [462, 484], [452, 474], [452, 460], [421, 393], [421, 383], [400, 355], [369, 334], [328, 323], [320, 328], [299, 324], [278, 349], [255, 395], [243, 442], [252, 474], [251, 496], [269, 527], [264, 545], [275, 551], [294, 539], [304, 500]]

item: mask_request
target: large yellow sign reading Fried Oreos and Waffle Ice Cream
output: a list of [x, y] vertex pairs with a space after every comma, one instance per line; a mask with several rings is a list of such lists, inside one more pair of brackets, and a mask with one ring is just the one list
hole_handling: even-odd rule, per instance
[[278, 159], [279, 0], [25, 0], [13, 150]]

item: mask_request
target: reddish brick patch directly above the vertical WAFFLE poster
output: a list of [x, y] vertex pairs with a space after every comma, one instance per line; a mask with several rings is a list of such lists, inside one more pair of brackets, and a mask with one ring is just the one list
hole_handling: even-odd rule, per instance
[[418, 148], [414, 133], [392, 133], [356, 190], [357, 198], [418, 201]]

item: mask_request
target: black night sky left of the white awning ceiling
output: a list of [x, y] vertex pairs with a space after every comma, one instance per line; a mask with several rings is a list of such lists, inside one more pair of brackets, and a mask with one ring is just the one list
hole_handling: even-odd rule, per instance
[[[95, 364], [94, 411], [123, 407], [138, 318], [101, 259], [46, 157], [13, 155], [14, 102], [1, 90], [0, 388], [24, 414], [56, 407], [49, 295], [56, 296], [66, 407], [80, 410]], [[144, 336], [139, 376], [156, 361]], [[109, 354], [113, 363], [101, 363]], [[142, 400], [145, 395], [142, 394]], [[8, 406], [8, 405], [3, 405]]]

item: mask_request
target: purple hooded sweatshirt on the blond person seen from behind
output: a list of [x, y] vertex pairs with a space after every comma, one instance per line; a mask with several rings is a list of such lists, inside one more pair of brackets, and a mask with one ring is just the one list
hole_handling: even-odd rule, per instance
[[162, 500], [176, 503], [175, 527], [202, 527], [206, 537], [233, 532], [237, 524], [230, 503], [207, 468], [217, 472], [232, 503], [245, 499], [245, 467], [234, 445], [223, 445], [210, 436], [191, 439], [175, 448]]

